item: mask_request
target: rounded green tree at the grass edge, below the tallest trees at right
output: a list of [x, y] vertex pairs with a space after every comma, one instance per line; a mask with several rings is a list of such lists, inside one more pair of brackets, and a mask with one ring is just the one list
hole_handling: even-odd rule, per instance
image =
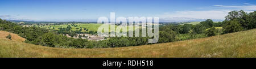
[[242, 27], [237, 20], [225, 21], [225, 25], [223, 27], [224, 33], [232, 33], [232, 32], [238, 32], [238, 31], [242, 31]]

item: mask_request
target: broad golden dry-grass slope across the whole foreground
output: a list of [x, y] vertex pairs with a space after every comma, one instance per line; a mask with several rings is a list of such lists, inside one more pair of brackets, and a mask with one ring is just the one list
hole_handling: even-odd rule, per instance
[[256, 29], [195, 40], [106, 49], [61, 49], [0, 38], [0, 57], [256, 57]]

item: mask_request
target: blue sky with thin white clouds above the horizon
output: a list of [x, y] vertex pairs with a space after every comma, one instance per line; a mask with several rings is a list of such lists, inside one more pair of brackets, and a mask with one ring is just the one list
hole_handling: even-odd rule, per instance
[[224, 20], [228, 12], [256, 10], [256, 0], [1, 0], [0, 18], [97, 21], [101, 16], [159, 17], [162, 21]]

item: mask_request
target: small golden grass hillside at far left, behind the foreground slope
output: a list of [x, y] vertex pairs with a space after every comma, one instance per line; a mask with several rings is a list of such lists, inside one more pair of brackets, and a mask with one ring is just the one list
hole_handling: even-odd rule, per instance
[[6, 31], [0, 31], [0, 38], [7, 39], [6, 36], [11, 35], [11, 40], [14, 41], [25, 41], [26, 39], [23, 37], [20, 37], [19, 35], [16, 35], [14, 33], [6, 32]]

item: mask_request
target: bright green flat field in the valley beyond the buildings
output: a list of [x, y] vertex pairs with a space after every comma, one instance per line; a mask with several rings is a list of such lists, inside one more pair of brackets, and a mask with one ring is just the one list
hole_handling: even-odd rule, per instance
[[[103, 24], [96, 24], [96, 23], [90, 23], [90, 24], [75, 24], [77, 25], [77, 27], [74, 27], [72, 26], [71, 24], [63, 24], [63, 25], [45, 25], [43, 26], [42, 28], [50, 28], [50, 29], [53, 29], [53, 27], [55, 28], [55, 30], [59, 30], [58, 28], [67, 28], [68, 25], [70, 25], [72, 27], [72, 31], [76, 31], [76, 30], [79, 30], [80, 28], [86, 28], [88, 29], [88, 31], [98, 31], [98, 28], [103, 25]], [[115, 25], [115, 28], [117, 28], [118, 26]], [[79, 28], [79, 29], [76, 29], [76, 28]], [[138, 28], [141, 28], [141, 27], [134, 27], [134, 29], [138, 29]], [[109, 28], [110, 30], [110, 28]], [[127, 27], [127, 30], [128, 30], [128, 27]], [[82, 32], [85, 32], [84, 29], [82, 29]]]

